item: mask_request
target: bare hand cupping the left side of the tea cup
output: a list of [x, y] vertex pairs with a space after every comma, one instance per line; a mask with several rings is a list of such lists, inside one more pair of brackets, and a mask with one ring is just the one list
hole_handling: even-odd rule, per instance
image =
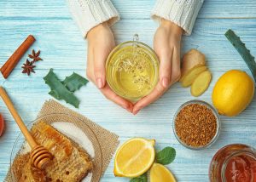
[[115, 46], [114, 37], [108, 23], [102, 23], [91, 29], [87, 34], [88, 59], [86, 75], [91, 82], [94, 82], [108, 100], [122, 106], [127, 111], [132, 111], [131, 102], [113, 93], [106, 82], [106, 60], [108, 54]]

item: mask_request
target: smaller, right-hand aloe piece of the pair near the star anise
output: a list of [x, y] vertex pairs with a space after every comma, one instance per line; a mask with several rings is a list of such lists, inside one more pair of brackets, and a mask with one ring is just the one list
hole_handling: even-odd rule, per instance
[[86, 80], [84, 77], [81, 77], [79, 74], [73, 72], [73, 74], [69, 77], [66, 77], [62, 83], [70, 92], [74, 92], [79, 90], [79, 88], [82, 86], [86, 85], [87, 82], [88, 80]]

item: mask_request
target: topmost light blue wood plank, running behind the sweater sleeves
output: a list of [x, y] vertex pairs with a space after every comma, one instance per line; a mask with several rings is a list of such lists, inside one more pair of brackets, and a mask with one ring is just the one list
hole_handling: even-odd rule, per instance
[[[119, 10], [122, 19], [149, 19], [154, 7], [154, 0], [113, 0], [116, 9]], [[65, 0], [52, 1], [0, 1], [0, 18], [66, 18], [70, 14]], [[200, 18], [255, 18], [256, 3], [254, 0], [205, 0]]]

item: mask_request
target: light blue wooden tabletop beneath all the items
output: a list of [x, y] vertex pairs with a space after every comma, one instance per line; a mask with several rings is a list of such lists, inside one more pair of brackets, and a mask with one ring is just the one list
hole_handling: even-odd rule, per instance
[[[113, 26], [117, 43], [131, 40], [138, 33], [140, 40], [152, 46], [157, 24], [150, 20], [154, 0], [114, 0], [122, 20]], [[247, 48], [256, 55], [256, 3], [255, 0], [206, 0], [192, 36], [183, 37], [182, 52], [199, 48], [207, 55], [207, 64], [212, 71], [210, 88], [199, 99], [212, 103], [212, 87], [218, 77], [230, 69], [240, 69], [250, 74], [247, 65], [224, 37], [232, 28], [247, 43]], [[0, 76], [0, 84], [9, 92], [25, 122], [31, 122], [38, 114], [49, 88], [43, 77], [54, 68], [64, 78], [73, 71], [85, 76], [86, 42], [71, 19], [64, 0], [2, 0], [0, 1], [0, 65], [8, 60], [28, 34], [37, 38], [32, 48], [40, 48], [44, 61], [37, 64], [36, 74], [27, 77], [21, 74], [24, 57], [8, 80]], [[29, 50], [31, 52], [32, 48]], [[203, 151], [190, 151], [177, 142], [172, 132], [172, 117], [179, 105], [193, 100], [189, 88], [175, 84], [160, 100], [149, 105], [137, 116], [106, 100], [96, 87], [89, 83], [76, 95], [81, 100], [79, 113], [89, 117], [102, 127], [119, 134], [124, 142], [140, 136], [156, 139], [157, 149], [172, 146], [177, 150], [175, 162], [168, 168], [178, 181], [208, 181], [208, 167], [212, 156], [219, 148], [231, 143], [256, 146], [256, 100], [238, 117], [221, 117], [222, 129], [218, 141]], [[67, 105], [61, 102], [63, 105]], [[69, 106], [69, 105], [67, 105]], [[73, 109], [73, 107], [70, 107]], [[9, 111], [0, 101], [0, 112], [6, 120], [6, 131], [0, 138], [0, 181], [8, 168], [9, 157], [19, 128]], [[113, 176], [113, 160], [102, 181], [128, 181]]]

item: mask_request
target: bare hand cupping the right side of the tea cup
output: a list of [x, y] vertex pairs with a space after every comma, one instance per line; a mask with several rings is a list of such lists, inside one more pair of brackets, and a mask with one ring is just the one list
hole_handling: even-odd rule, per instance
[[139, 100], [133, 107], [133, 114], [158, 100], [180, 77], [180, 42], [183, 29], [169, 20], [161, 20], [154, 34], [154, 51], [160, 59], [160, 80], [152, 93]]

